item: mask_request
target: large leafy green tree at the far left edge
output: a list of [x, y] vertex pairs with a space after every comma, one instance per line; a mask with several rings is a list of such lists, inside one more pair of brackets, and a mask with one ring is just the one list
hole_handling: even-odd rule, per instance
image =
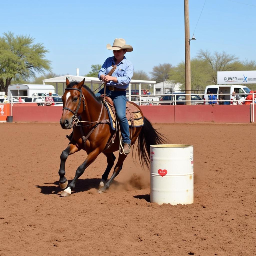
[[45, 59], [47, 49], [27, 35], [4, 33], [0, 37], [0, 91], [7, 93], [11, 80], [35, 78], [36, 73], [50, 71], [50, 61]]

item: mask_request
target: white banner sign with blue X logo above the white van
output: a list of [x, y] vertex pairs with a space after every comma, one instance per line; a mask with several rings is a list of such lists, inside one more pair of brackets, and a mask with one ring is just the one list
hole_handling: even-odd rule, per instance
[[218, 71], [217, 84], [256, 83], [256, 70], [253, 71]]

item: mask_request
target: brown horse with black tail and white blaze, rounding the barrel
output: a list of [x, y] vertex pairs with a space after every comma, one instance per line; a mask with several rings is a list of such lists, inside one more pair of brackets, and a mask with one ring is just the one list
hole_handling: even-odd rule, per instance
[[[73, 132], [67, 148], [60, 155], [59, 185], [61, 189], [64, 189], [61, 196], [67, 197], [71, 195], [71, 189], [74, 189], [78, 178], [100, 153], [103, 153], [107, 157], [107, 167], [102, 175], [98, 189], [98, 193], [104, 193], [121, 171], [127, 155], [119, 151], [118, 161], [114, 167], [112, 176], [108, 180], [110, 170], [114, 166], [115, 161], [113, 152], [118, 151], [120, 148], [119, 139], [113, 139], [115, 131], [106, 122], [109, 119], [108, 111], [103, 105], [102, 99], [96, 97], [93, 91], [84, 85], [84, 79], [81, 82], [70, 82], [67, 78], [66, 86], [62, 96], [63, 109], [60, 125], [62, 129], [71, 129], [73, 126]], [[129, 103], [136, 105], [133, 102]], [[149, 168], [150, 145], [165, 144], [165, 137], [153, 128], [150, 121], [143, 116], [142, 111], [141, 115], [144, 125], [130, 127], [131, 145], [138, 139], [136, 153], [138, 151], [139, 162], [141, 166], [147, 166]], [[86, 125], [79, 125], [83, 122]], [[87, 157], [77, 168], [73, 180], [68, 184], [65, 177], [66, 160], [69, 155], [81, 149], [87, 152]]]

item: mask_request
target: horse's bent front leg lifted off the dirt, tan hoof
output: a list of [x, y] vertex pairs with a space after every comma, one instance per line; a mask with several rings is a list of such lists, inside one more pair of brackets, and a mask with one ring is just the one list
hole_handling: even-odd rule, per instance
[[60, 184], [60, 187], [62, 189], [65, 189], [68, 185], [68, 180], [65, 177], [66, 160], [67, 160], [69, 155], [72, 155], [77, 151], [79, 151], [78, 147], [75, 144], [70, 142], [68, 147], [65, 150], [63, 150], [61, 155], [60, 155], [60, 169], [59, 169], [60, 179], [59, 179], [59, 184]]

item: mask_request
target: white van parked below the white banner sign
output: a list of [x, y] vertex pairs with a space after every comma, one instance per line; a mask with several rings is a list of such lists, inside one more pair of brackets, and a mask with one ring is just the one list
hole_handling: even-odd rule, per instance
[[[218, 84], [218, 85], [207, 85], [205, 88], [205, 94], [204, 94], [204, 104], [209, 104], [208, 100], [208, 95], [207, 92], [210, 91], [211, 94], [214, 94], [215, 96], [217, 96], [217, 100], [219, 99], [219, 93], [222, 92], [223, 94], [228, 93], [229, 95], [224, 95], [225, 96], [225, 102], [224, 104], [230, 104], [230, 100], [232, 100], [232, 92], [236, 92], [239, 93], [239, 98], [240, 98], [240, 102], [244, 101], [247, 97], [246, 94], [242, 94], [242, 93], [250, 93], [250, 89], [246, 86], [243, 85], [227, 85], [227, 84]], [[231, 98], [230, 98], [231, 96]], [[231, 103], [232, 104], [232, 103]]]

